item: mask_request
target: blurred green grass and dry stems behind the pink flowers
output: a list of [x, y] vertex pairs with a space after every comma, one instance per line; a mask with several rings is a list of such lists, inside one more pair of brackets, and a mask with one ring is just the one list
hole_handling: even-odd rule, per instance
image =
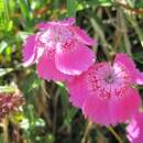
[[[23, 41], [36, 24], [69, 16], [98, 41], [91, 47], [97, 61], [123, 52], [143, 70], [142, 0], [0, 0], [0, 92], [19, 89], [25, 99], [9, 124], [0, 124], [0, 143], [118, 143], [109, 129], [90, 124], [72, 107], [64, 85], [22, 66]], [[119, 124], [114, 131], [128, 143], [124, 129]]]

